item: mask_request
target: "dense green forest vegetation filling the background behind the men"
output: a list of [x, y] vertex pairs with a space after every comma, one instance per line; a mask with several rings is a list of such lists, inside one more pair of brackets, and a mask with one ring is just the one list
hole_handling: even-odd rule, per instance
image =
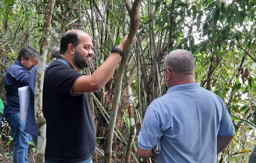
[[[0, 96], [3, 101], [4, 73], [21, 47], [30, 45], [39, 50], [46, 2], [0, 0]], [[95, 55], [92, 65], [83, 71], [93, 73], [108, 57], [110, 48], [120, 42], [124, 30], [129, 29], [130, 17], [127, 13], [125, 18], [123, 3], [117, 0], [56, 0], [50, 43], [60, 41], [61, 35], [69, 29], [87, 31], [92, 37]], [[196, 82], [225, 101], [236, 128], [233, 143], [218, 155], [218, 161], [247, 162], [255, 144], [256, 130], [255, 3], [255, 0], [142, 0], [138, 42], [128, 62], [137, 129], [134, 154], [147, 106], [166, 91], [163, 77], [158, 74], [164, 57], [173, 49], [186, 49], [195, 57]], [[101, 91], [90, 94], [99, 162], [103, 160], [116, 77], [117, 71]], [[114, 135], [112, 145], [112, 160], [116, 162], [124, 161], [130, 132], [126, 84], [123, 80], [116, 122], [119, 132]], [[6, 149], [12, 145], [12, 138], [8, 124], [2, 126], [0, 158], [3, 159], [11, 157]], [[249, 152], [236, 154], [243, 150]], [[143, 159], [131, 157], [131, 161], [140, 160]]]

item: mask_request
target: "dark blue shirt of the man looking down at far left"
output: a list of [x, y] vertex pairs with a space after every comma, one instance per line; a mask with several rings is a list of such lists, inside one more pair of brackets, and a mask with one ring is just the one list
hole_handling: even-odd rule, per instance
[[20, 112], [18, 88], [26, 86], [28, 70], [18, 60], [7, 68], [4, 77], [4, 89], [6, 90], [6, 102], [4, 113], [14, 114]]

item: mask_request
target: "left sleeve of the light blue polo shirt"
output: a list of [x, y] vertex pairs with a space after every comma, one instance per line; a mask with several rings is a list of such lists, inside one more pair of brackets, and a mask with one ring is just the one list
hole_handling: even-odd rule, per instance
[[144, 150], [152, 149], [163, 135], [162, 123], [155, 109], [148, 107], [139, 134], [138, 146]]

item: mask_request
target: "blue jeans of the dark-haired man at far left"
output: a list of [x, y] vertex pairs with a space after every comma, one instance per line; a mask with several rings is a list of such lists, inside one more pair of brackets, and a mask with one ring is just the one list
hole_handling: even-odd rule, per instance
[[28, 141], [31, 135], [24, 132], [26, 121], [20, 120], [20, 113], [6, 114], [4, 117], [12, 130], [13, 136], [13, 163], [28, 163]]

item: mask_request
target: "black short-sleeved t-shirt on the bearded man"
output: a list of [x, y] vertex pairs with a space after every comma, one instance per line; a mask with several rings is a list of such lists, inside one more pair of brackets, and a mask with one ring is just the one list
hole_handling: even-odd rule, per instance
[[71, 93], [81, 75], [84, 74], [59, 60], [45, 71], [46, 160], [83, 161], [90, 158], [95, 150], [95, 126], [87, 95]]

